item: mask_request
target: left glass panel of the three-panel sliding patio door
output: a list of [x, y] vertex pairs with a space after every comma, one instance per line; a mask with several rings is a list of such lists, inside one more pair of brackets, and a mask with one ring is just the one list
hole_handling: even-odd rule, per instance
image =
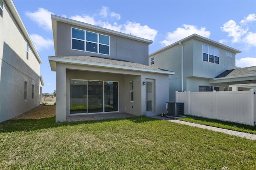
[[70, 80], [70, 114], [87, 113], [87, 81]]

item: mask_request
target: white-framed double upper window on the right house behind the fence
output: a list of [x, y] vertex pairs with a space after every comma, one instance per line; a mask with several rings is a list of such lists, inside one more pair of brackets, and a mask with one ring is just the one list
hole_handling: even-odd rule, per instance
[[219, 63], [219, 49], [203, 44], [203, 61]]

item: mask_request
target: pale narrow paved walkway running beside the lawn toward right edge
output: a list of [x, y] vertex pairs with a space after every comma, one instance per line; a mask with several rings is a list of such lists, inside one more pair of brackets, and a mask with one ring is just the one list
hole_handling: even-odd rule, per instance
[[170, 121], [170, 122], [180, 123], [180, 124], [188, 125], [188, 126], [192, 126], [192, 127], [205, 128], [205, 129], [208, 129], [208, 130], [214, 130], [216, 132], [222, 132], [222, 133], [226, 133], [226, 134], [230, 134], [230, 135], [234, 135], [234, 136], [239, 136], [239, 137], [242, 137], [242, 138], [256, 140], [256, 134], [250, 134], [250, 133], [245, 133], [245, 132], [237, 132], [237, 131], [234, 131], [234, 130], [228, 130], [228, 129], [224, 129], [224, 128], [217, 128], [217, 127], [211, 127], [211, 126], [206, 126], [206, 125], [200, 125], [200, 124], [196, 124], [196, 123], [179, 121], [178, 119], [168, 119], [168, 118], [160, 117], [160, 116], [157, 116], [157, 115], [148, 115], [148, 117], [153, 117], [153, 118], [160, 119], [160, 120], [166, 120], [166, 121]]

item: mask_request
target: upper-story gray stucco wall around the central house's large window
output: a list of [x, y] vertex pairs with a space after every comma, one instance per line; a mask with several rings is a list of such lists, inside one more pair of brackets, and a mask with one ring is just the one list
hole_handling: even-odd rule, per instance
[[[110, 55], [71, 49], [72, 27], [110, 36]], [[130, 40], [127, 38], [122, 38], [107, 33], [97, 32], [94, 30], [85, 29], [78, 26], [72, 26], [70, 24], [66, 24], [63, 22], [57, 22], [56, 55], [86, 55], [108, 57], [148, 65], [148, 43]]]

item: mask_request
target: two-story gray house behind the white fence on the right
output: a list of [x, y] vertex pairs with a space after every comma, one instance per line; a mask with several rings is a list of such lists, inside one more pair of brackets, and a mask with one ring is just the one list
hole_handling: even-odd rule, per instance
[[256, 83], [254, 67], [236, 68], [240, 52], [193, 34], [151, 53], [148, 62], [175, 72], [169, 76], [169, 101], [175, 101], [175, 91], [229, 91], [232, 84]]

